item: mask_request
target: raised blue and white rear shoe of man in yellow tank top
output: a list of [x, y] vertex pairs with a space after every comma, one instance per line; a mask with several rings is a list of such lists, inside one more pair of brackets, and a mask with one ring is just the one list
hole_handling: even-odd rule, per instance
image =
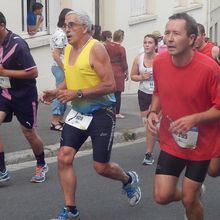
[[128, 203], [131, 206], [137, 205], [141, 200], [141, 189], [138, 186], [139, 178], [136, 172], [129, 171], [128, 175], [131, 176], [132, 182], [123, 186], [124, 193], [127, 194]]

